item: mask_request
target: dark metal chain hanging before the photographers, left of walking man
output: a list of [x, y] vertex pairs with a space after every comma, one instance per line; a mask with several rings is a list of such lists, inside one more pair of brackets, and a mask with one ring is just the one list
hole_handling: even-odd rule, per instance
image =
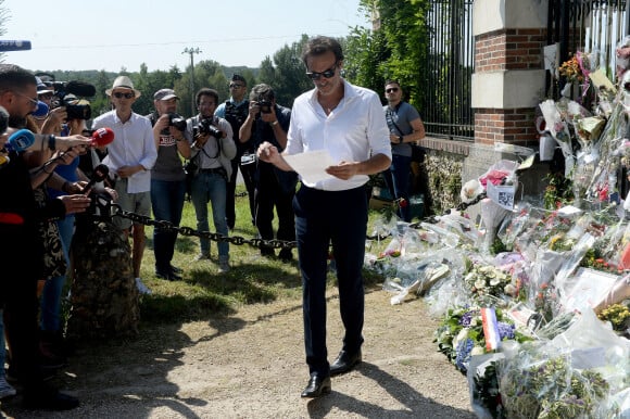
[[173, 223], [166, 220], [155, 220], [151, 217], [144, 215], [136, 214], [130, 211], [125, 211], [118, 204], [112, 204], [112, 216], [117, 215], [119, 217], [128, 218], [136, 224], [142, 224], [144, 226], [152, 226], [165, 231], [175, 231], [181, 236], [194, 236], [203, 239], [209, 239], [216, 242], [228, 242], [235, 245], [249, 244], [256, 249], [294, 249], [298, 246], [295, 241], [285, 241], [285, 240], [264, 240], [264, 239], [245, 239], [240, 236], [227, 237], [216, 232], [210, 231], [198, 231], [190, 227], [177, 227]]

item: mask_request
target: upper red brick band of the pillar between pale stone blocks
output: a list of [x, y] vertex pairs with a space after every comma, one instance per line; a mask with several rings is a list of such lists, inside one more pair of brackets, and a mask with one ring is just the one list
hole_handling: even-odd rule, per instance
[[545, 29], [502, 29], [475, 39], [475, 72], [542, 68]]

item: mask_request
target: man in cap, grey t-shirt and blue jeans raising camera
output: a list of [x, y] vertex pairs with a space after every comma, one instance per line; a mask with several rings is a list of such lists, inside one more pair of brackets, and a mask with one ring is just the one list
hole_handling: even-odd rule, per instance
[[[151, 206], [155, 220], [179, 227], [186, 195], [186, 173], [181, 165], [190, 158], [190, 144], [186, 141], [186, 119], [177, 112], [179, 97], [172, 89], [160, 89], [153, 94], [155, 112], [149, 115], [153, 125], [153, 137], [158, 160], [151, 169]], [[171, 264], [175, 253], [177, 231], [153, 229], [155, 276], [169, 281], [180, 280], [181, 269]]]

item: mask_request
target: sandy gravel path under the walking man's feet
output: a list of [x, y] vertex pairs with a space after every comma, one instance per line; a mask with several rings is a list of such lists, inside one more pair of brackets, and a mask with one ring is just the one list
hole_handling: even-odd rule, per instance
[[[466, 378], [432, 342], [421, 300], [391, 306], [366, 294], [364, 361], [332, 379], [332, 393], [302, 399], [308, 379], [300, 301], [239, 308], [210, 321], [143, 328], [127, 342], [80, 347], [55, 384], [80, 398], [64, 412], [15, 418], [475, 418]], [[329, 292], [328, 350], [341, 347], [336, 289]]]

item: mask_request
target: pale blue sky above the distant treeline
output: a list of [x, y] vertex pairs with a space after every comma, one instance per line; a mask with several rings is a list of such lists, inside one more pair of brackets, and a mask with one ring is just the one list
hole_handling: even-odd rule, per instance
[[[37, 4], [37, 5], [36, 5]], [[301, 34], [345, 36], [367, 26], [358, 0], [4, 0], [3, 40], [33, 43], [8, 52], [4, 63], [36, 69], [137, 72], [185, 69], [186, 48], [199, 48], [194, 62], [256, 67], [265, 56]]]

